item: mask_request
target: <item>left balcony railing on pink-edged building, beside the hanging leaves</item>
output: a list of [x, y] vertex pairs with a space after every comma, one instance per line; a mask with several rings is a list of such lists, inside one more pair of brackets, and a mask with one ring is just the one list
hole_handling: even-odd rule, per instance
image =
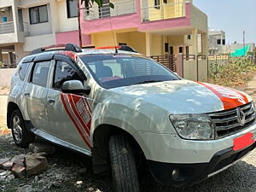
[[135, 0], [121, 1], [113, 3], [113, 5], [113, 9], [109, 8], [108, 3], [103, 4], [101, 9], [99, 9], [98, 6], [84, 8], [84, 20], [95, 20], [106, 17], [134, 14], [137, 12]]

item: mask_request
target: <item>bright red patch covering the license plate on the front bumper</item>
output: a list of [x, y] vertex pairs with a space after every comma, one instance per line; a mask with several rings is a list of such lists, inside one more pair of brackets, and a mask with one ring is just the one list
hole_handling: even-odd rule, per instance
[[255, 141], [253, 139], [253, 133], [248, 132], [247, 134], [243, 135], [242, 137], [237, 137], [233, 140], [234, 147], [233, 150], [237, 151], [242, 148], [246, 148], [253, 144]]

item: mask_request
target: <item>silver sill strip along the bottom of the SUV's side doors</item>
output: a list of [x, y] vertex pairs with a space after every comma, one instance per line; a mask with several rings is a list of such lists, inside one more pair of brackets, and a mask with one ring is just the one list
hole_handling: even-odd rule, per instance
[[81, 154], [85, 154], [85, 155], [88, 155], [88, 156], [91, 156], [91, 152], [89, 150], [85, 150], [84, 148], [79, 148], [78, 146], [75, 146], [71, 143], [67, 143], [57, 137], [53, 137], [51, 135], [49, 135], [48, 133], [44, 132], [44, 131], [40, 131], [36, 128], [32, 128], [31, 131], [37, 135], [38, 137], [42, 137], [44, 138], [45, 140], [49, 141], [50, 143], [55, 143], [57, 145], [61, 145], [62, 147], [64, 148], [70, 148], [74, 151], [77, 151]]

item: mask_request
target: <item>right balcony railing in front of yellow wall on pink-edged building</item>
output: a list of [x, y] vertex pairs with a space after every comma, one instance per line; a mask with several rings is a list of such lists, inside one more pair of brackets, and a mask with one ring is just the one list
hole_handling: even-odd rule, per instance
[[142, 21], [167, 20], [184, 17], [186, 15], [186, 2], [164, 3], [159, 6], [142, 9]]

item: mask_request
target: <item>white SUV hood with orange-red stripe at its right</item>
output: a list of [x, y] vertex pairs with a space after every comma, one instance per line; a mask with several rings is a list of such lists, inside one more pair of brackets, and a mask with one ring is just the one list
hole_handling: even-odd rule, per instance
[[[206, 84], [189, 80], [175, 80], [152, 84], [136, 84], [112, 89], [131, 102], [165, 109], [169, 113], [211, 113], [236, 108], [252, 99], [238, 90], [215, 84]], [[128, 96], [128, 97], [127, 97]], [[151, 106], [150, 106], [151, 105]]]

